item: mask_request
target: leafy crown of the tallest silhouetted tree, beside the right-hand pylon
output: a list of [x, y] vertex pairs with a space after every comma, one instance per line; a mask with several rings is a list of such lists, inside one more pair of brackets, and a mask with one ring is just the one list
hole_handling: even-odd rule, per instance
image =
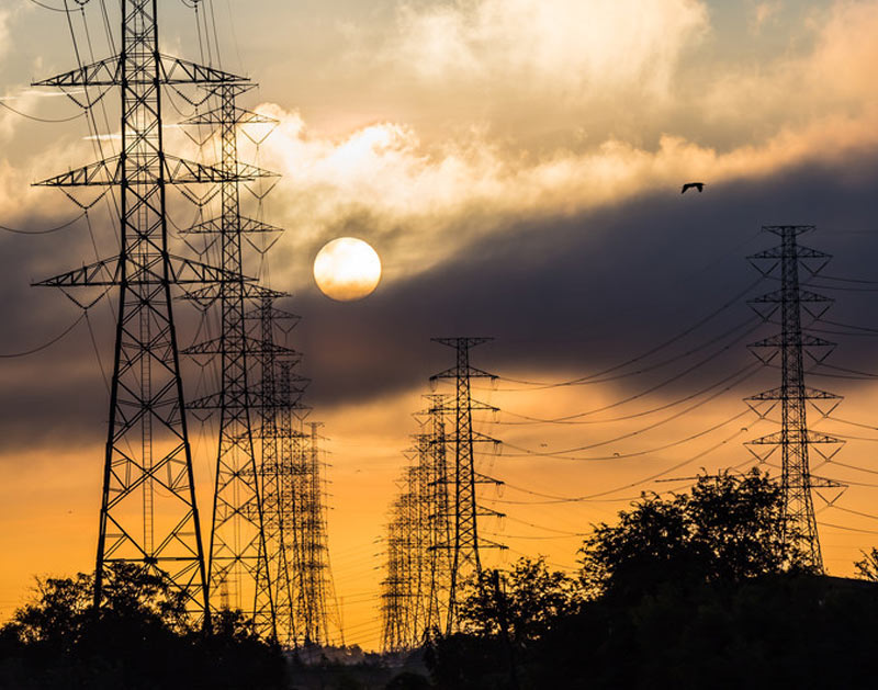
[[637, 598], [664, 586], [733, 585], [803, 569], [784, 539], [780, 488], [758, 470], [700, 476], [688, 494], [643, 494], [619, 523], [600, 523], [581, 550], [590, 599]]

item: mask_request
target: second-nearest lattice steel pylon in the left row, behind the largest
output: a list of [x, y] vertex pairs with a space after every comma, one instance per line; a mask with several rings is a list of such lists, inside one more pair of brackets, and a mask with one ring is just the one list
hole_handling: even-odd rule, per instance
[[[228, 83], [212, 88], [216, 108], [182, 123], [210, 126], [218, 132], [217, 168], [226, 177], [219, 185], [221, 215], [199, 223], [187, 233], [218, 235], [222, 267], [237, 275], [243, 271], [244, 234], [279, 231], [241, 215], [240, 183], [236, 176], [240, 165], [238, 131], [244, 125], [275, 122], [237, 105], [238, 97], [252, 87], [251, 83]], [[270, 176], [266, 171], [259, 171], [259, 174]], [[250, 285], [241, 278], [219, 285], [218, 290], [201, 290], [189, 296], [199, 302], [216, 302], [221, 310], [218, 338], [184, 350], [187, 354], [219, 358], [219, 391], [189, 404], [192, 409], [219, 412], [207, 568], [212, 604], [215, 608], [234, 604], [252, 617], [256, 630], [263, 637], [273, 638], [271, 581], [268, 573], [259, 573], [266, 563], [266, 535], [252, 434], [255, 410], [250, 360], [260, 354], [257, 351], [260, 343], [248, 339], [245, 316], [248, 299], [274, 299], [282, 293]]]

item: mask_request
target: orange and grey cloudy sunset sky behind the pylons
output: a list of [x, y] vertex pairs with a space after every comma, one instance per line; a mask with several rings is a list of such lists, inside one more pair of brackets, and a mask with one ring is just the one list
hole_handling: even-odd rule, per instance
[[[70, 14], [83, 60], [111, 54], [102, 4], [114, 29], [115, 2], [92, 0], [85, 23]], [[380, 643], [381, 538], [418, 430], [412, 415], [429, 376], [453, 363], [430, 338], [495, 338], [473, 352], [499, 376], [475, 391], [502, 410], [480, 430], [505, 442], [480, 456], [506, 482], [482, 497], [507, 513], [484, 525], [510, 547], [491, 563], [544, 554], [573, 568], [582, 534], [641, 490], [750, 466], [743, 442], [776, 426], [742, 398], [779, 378], [746, 369], [756, 361], [746, 344], [773, 332], [746, 305], [776, 289], [745, 260], [774, 246], [763, 225], [814, 225], [802, 242], [834, 257], [810, 289], [835, 298], [834, 325], [813, 326], [837, 340], [826, 362], [844, 371], [810, 366], [808, 380], [845, 397], [830, 418], [809, 418], [848, 437], [815, 468], [847, 485], [815, 498], [830, 573], [851, 575], [878, 542], [878, 518], [866, 517], [878, 513], [878, 386], [862, 375], [878, 372], [868, 330], [878, 329], [878, 2], [209, 0], [209, 43], [185, 3], [159, 4], [162, 52], [251, 76], [260, 86], [248, 106], [278, 120], [243, 143], [243, 157], [281, 174], [245, 204], [286, 233], [246, 268], [290, 291], [286, 307], [303, 317], [291, 344], [326, 425], [347, 642]], [[31, 183], [117, 145], [116, 94], [94, 109], [95, 139], [72, 99], [98, 94], [30, 86], [76, 59], [64, 12], [0, 0], [2, 226], [33, 233], [76, 218], [71, 200]], [[173, 126], [191, 110], [187, 95], [168, 94], [167, 143], [195, 157]], [[703, 193], [680, 195], [689, 181], [706, 182]], [[95, 202], [90, 225], [0, 230], [0, 354], [38, 348], [79, 318], [64, 294], [30, 284], [112, 253], [116, 230], [98, 194], [76, 194]], [[180, 226], [195, 216], [180, 195], [170, 210]], [[359, 302], [333, 302], [313, 282], [315, 256], [342, 236], [381, 257], [382, 282]], [[191, 342], [198, 316], [176, 308]], [[112, 326], [102, 303], [52, 347], [0, 359], [0, 618], [35, 575], [92, 567]], [[533, 385], [620, 364], [624, 375], [588, 385]], [[192, 397], [209, 385], [185, 365]], [[576, 423], [522, 423], [581, 412]], [[210, 431], [193, 422], [203, 506]], [[592, 498], [547, 504], [528, 491]]]

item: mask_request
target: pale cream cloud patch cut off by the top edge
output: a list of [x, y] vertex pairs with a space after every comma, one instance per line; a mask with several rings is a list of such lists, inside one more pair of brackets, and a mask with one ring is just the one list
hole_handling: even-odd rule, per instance
[[393, 57], [423, 77], [663, 92], [708, 15], [697, 0], [455, 0], [404, 4], [398, 22]]

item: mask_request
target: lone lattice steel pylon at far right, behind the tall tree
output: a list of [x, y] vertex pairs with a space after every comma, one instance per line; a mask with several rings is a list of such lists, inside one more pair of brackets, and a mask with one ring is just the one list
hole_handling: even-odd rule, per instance
[[[780, 404], [780, 431], [750, 441], [747, 446], [763, 462], [780, 449], [785, 546], [799, 551], [807, 565], [822, 573], [823, 556], [814, 518], [812, 489], [841, 485], [811, 474], [809, 449], [813, 448], [829, 460], [838, 451], [842, 441], [808, 428], [807, 403], [825, 416], [835, 409], [841, 397], [811, 388], [804, 383], [804, 354], [808, 353], [820, 362], [834, 347], [834, 343], [823, 338], [802, 331], [802, 312], [817, 319], [832, 302], [829, 297], [801, 289], [799, 284], [800, 267], [817, 274], [831, 258], [822, 251], [798, 245], [798, 236], [813, 229], [813, 226], [801, 225], [765, 226], [764, 231], [780, 237], [780, 246], [748, 257], [763, 274], [770, 275], [778, 270], [780, 273], [779, 290], [750, 303], [765, 320], [772, 319], [779, 309], [780, 332], [750, 347], [766, 363], [780, 354], [781, 383], [777, 388], [746, 398], [747, 404], [763, 417]], [[761, 355], [763, 351], [768, 354]], [[825, 407], [821, 408], [821, 404]], [[764, 446], [769, 450], [766, 452]], [[831, 446], [833, 450], [824, 452], [821, 446]]]

